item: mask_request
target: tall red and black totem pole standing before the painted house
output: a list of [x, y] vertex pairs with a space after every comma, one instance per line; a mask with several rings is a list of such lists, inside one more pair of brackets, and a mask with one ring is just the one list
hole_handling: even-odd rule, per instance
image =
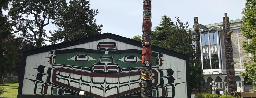
[[151, 25], [151, 0], [143, 0], [141, 98], [152, 96]]

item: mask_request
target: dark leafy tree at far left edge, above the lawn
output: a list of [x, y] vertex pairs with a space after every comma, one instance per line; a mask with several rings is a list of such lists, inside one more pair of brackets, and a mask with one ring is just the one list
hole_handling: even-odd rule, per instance
[[15, 38], [10, 32], [11, 23], [7, 17], [1, 17], [0, 25], [0, 79], [12, 72], [16, 68], [18, 61], [18, 50], [20, 48], [20, 38]]

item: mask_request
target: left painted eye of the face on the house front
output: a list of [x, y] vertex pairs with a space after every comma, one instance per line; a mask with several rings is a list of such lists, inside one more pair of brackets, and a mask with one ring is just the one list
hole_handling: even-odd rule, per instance
[[81, 55], [76, 55], [74, 57], [71, 57], [70, 59], [67, 59], [67, 60], [90, 61], [90, 60], [96, 60], [96, 59], [93, 59], [92, 57], [90, 57], [88, 55], [81, 54]]

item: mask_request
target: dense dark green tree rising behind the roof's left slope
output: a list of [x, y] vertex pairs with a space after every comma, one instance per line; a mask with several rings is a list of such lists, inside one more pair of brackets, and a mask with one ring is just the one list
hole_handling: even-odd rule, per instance
[[52, 44], [101, 34], [103, 25], [98, 26], [94, 19], [99, 11], [90, 9], [88, 0], [72, 0], [70, 5], [64, 4], [59, 10], [53, 22], [58, 30], [49, 37]]

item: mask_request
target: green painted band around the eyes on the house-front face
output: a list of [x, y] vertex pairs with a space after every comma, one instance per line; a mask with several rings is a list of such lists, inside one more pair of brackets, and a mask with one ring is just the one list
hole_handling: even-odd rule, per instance
[[[71, 60], [71, 58], [75, 58], [76, 55], [87, 55], [92, 58], [92, 60], [88, 61], [75, 61]], [[136, 56], [139, 61], [137, 63], [124, 62], [119, 59], [124, 58], [125, 56]], [[101, 59], [100, 62], [112, 62], [119, 65], [119, 68], [130, 68], [130, 67], [141, 67], [141, 54], [138, 53], [122, 53], [122, 54], [97, 54], [97, 53], [88, 53], [88, 52], [73, 52], [73, 53], [63, 53], [56, 54], [55, 64], [62, 65], [73, 65], [79, 67], [92, 67], [93, 64], [100, 63], [100, 57], [113, 57], [114, 62], [111, 59]], [[137, 60], [138, 60], [137, 59]], [[156, 66], [157, 59], [155, 56], [152, 56], [152, 66]]]

